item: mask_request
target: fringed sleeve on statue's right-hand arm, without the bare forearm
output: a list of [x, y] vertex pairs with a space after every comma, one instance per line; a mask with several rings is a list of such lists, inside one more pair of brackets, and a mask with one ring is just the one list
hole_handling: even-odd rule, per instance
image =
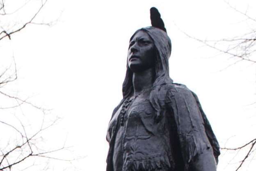
[[[186, 170], [196, 156], [202, 153], [213, 153], [214, 147], [212, 147], [211, 140], [207, 136], [208, 127], [205, 127], [197, 99], [192, 91], [184, 85], [171, 87], [167, 91], [165, 102], [175, 119]], [[210, 124], [207, 123], [207, 125]], [[210, 131], [212, 132], [212, 130]]]

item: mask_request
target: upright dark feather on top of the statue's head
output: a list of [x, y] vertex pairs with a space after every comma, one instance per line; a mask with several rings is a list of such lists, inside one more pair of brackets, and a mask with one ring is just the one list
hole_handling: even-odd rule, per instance
[[151, 25], [153, 27], [157, 27], [166, 32], [165, 23], [162, 21], [161, 15], [158, 12], [158, 9], [156, 9], [155, 7], [152, 7], [150, 9], [150, 19], [151, 19]]

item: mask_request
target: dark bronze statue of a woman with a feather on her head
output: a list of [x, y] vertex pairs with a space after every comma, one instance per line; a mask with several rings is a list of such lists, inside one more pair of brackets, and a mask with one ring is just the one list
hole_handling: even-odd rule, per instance
[[130, 38], [123, 99], [107, 130], [107, 171], [216, 171], [219, 144], [195, 93], [169, 77], [158, 10]]

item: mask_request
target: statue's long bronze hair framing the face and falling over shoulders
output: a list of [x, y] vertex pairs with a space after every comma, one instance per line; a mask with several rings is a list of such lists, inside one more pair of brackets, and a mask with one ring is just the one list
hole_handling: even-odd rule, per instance
[[[161, 86], [164, 84], [170, 84], [173, 81], [169, 77], [169, 62], [168, 59], [171, 55], [171, 40], [166, 32], [156, 27], [144, 27], [137, 30], [133, 36], [139, 32], [144, 31], [153, 40], [156, 50], [156, 62], [155, 62], [155, 81], [153, 82], [153, 88], [150, 93], [149, 100], [151, 105], [155, 109], [157, 118], [160, 116], [161, 106], [158, 98], [158, 92]], [[133, 36], [130, 38], [133, 39]], [[128, 98], [133, 93], [133, 72], [126, 65], [126, 76], [123, 81], [123, 100]], [[122, 100], [122, 101], [123, 101]]]

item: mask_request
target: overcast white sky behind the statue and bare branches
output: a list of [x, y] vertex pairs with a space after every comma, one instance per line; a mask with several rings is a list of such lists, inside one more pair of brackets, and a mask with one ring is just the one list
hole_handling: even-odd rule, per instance
[[[220, 145], [237, 147], [255, 135], [255, 106], [249, 105], [255, 102], [255, 65], [240, 62], [224, 69], [234, 59], [216, 56], [215, 50], [181, 32], [221, 39], [252, 27], [223, 0], [48, 1], [35, 21], [47, 22], [62, 14], [59, 21], [53, 27], [29, 25], [11, 41], [1, 41], [1, 56], [14, 54], [18, 81], [13, 89], [18, 95], [33, 96], [31, 100], [63, 118], [50, 136], [57, 144], [68, 134], [74, 155], [87, 156], [76, 167], [105, 170], [105, 135], [112, 110], [122, 98], [129, 39], [151, 24], [151, 7], [160, 11], [172, 41], [170, 76], [197, 93]], [[253, 1], [230, 3], [241, 11], [249, 4], [249, 14], [256, 8]], [[234, 171], [239, 160], [230, 162], [235, 153], [224, 152], [218, 171]], [[253, 168], [255, 160], [242, 169]]]

